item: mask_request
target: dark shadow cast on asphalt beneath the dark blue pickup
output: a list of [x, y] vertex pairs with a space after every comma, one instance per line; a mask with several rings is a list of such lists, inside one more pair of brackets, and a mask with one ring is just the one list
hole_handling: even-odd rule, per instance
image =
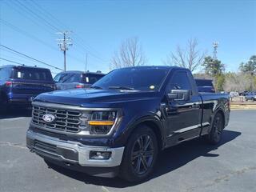
[[[206, 144], [203, 138], [198, 138], [195, 140], [191, 140], [188, 142], [183, 142], [178, 146], [170, 147], [169, 149], [163, 150], [158, 156], [158, 162], [155, 167], [154, 174], [151, 175], [146, 181], [149, 182], [151, 179], [157, 178], [162, 174], [167, 174], [172, 170], [176, 170], [181, 166], [185, 166], [186, 163], [193, 161], [198, 157], [209, 157], [215, 158], [218, 157], [219, 146], [226, 144], [227, 142], [231, 142], [235, 138], [241, 135], [241, 132], [232, 131], [232, 130], [223, 130], [222, 134], [222, 142], [220, 142], [216, 146], [210, 146]], [[213, 153], [214, 152], [214, 153]], [[51, 166], [53, 170], [58, 171], [61, 174], [65, 174], [70, 178], [77, 179], [78, 181], [85, 182], [86, 184], [93, 184], [97, 186], [110, 186], [110, 187], [118, 187], [125, 188], [128, 186], [136, 186], [143, 182], [126, 182], [121, 178], [97, 178], [92, 177], [80, 172], [76, 172], [73, 170], [66, 170], [60, 166]]]

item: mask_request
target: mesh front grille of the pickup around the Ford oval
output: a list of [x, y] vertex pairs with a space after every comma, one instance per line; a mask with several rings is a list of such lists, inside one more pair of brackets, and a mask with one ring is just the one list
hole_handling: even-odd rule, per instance
[[[45, 122], [42, 120], [44, 114], [53, 114], [54, 122]], [[33, 106], [32, 123], [51, 130], [78, 133], [80, 131], [79, 117], [82, 115], [78, 110], [62, 110], [45, 106]]]

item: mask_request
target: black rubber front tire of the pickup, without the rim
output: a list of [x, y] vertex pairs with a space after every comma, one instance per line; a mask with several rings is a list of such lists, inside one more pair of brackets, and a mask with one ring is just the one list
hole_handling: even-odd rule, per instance
[[[133, 150], [134, 142], [136, 142], [136, 140], [143, 134], [150, 135], [150, 138], [153, 141], [154, 157], [153, 157], [153, 162], [152, 162], [149, 170], [147, 170], [147, 172], [145, 174], [138, 175], [138, 174], [134, 173], [134, 168], [133, 168], [130, 160], [131, 160], [131, 153]], [[120, 176], [129, 182], [139, 182], [139, 181], [146, 179], [153, 172], [157, 157], [158, 157], [158, 141], [157, 141], [156, 135], [154, 134], [154, 131], [152, 129], [150, 129], [150, 127], [148, 127], [148, 126], [144, 126], [144, 125], [138, 126], [138, 128], [136, 128], [136, 130], [134, 130], [134, 132], [130, 135], [128, 142], [126, 143], [126, 149], [124, 151], [124, 155], [122, 158], [121, 175]]]

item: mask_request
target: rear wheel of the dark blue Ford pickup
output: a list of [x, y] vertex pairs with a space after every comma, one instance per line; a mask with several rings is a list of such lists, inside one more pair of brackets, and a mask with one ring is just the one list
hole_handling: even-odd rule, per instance
[[207, 141], [210, 144], [216, 145], [222, 138], [222, 130], [224, 129], [224, 119], [222, 114], [215, 114], [214, 121], [208, 134]]

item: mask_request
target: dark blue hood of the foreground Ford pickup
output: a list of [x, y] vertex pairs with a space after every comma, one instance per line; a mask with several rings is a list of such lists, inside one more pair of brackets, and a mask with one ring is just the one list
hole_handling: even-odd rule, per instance
[[123, 102], [152, 100], [158, 98], [159, 94], [155, 91], [137, 90], [56, 90], [39, 94], [38, 97], [34, 98], [34, 102], [52, 102], [84, 107], [109, 107], [113, 105], [122, 106]]

